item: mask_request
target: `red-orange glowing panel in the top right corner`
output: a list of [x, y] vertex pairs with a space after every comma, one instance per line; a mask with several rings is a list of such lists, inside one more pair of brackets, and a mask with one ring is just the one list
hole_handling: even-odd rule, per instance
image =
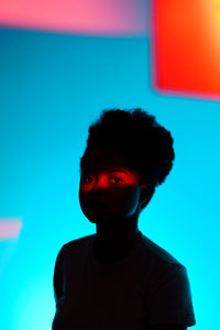
[[154, 0], [153, 85], [220, 99], [220, 0]]

